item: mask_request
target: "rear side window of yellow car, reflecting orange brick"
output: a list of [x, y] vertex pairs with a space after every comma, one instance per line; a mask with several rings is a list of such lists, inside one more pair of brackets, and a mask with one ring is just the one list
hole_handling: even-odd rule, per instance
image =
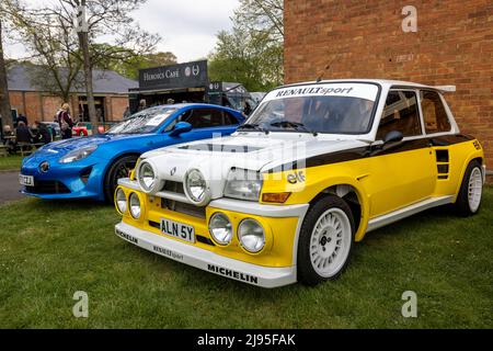
[[424, 90], [421, 92], [421, 109], [427, 134], [450, 132], [447, 111], [436, 91]]

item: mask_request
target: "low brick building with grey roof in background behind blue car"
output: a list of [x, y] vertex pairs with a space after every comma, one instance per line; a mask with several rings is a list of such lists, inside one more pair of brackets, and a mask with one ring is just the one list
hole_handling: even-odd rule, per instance
[[[41, 91], [32, 82], [28, 69], [13, 66], [8, 72], [9, 98], [14, 115], [24, 114], [28, 122], [53, 121], [62, 101], [54, 94]], [[128, 106], [128, 89], [137, 88], [138, 82], [119, 76], [114, 71], [93, 71], [94, 100], [100, 121], [121, 121]], [[70, 111], [78, 121], [89, 121], [87, 99], [83, 88], [70, 94]]]

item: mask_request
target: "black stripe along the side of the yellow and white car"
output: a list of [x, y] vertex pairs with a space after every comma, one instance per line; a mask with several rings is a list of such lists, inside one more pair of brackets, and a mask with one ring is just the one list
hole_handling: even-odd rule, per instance
[[458, 134], [458, 135], [445, 135], [431, 138], [422, 138], [415, 140], [406, 140], [390, 147], [386, 147], [385, 149], [379, 148], [378, 146], [365, 146], [348, 150], [317, 155], [307, 158], [305, 160], [297, 160], [295, 162], [277, 166], [275, 168], [266, 170], [265, 173], [277, 173], [296, 169], [341, 163], [368, 157], [378, 157], [404, 151], [412, 151], [428, 148], [431, 146], [450, 146], [471, 140], [474, 140], [474, 137]]

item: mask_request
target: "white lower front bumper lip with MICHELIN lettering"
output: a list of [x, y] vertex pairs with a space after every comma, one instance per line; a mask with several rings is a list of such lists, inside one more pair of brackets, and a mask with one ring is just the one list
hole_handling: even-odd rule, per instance
[[296, 282], [296, 267], [270, 268], [233, 260], [198, 247], [186, 245], [125, 223], [115, 226], [124, 240], [165, 258], [262, 287], [278, 287]]

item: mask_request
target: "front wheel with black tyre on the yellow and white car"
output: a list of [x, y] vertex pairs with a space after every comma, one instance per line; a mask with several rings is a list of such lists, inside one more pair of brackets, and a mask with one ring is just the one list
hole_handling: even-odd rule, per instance
[[298, 241], [298, 281], [317, 285], [346, 268], [354, 242], [354, 218], [347, 203], [328, 195], [308, 211]]

